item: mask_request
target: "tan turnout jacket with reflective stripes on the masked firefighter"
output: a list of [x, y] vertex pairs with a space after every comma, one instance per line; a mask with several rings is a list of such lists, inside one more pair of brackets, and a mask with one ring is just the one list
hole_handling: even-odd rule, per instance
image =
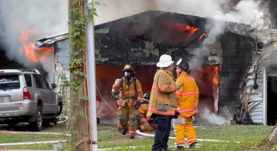
[[[124, 80], [122, 85], [123, 85], [123, 89], [121, 89], [119, 94], [120, 100], [118, 100], [118, 105], [123, 105], [124, 103], [128, 103], [129, 106], [134, 106], [136, 104], [135, 102], [133, 102], [133, 99], [132, 99], [132, 97], [135, 96], [134, 78], [132, 77], [129, 80], [129, 89], [126, 89], [127, 80]], [[116, 91], [120, 88], [120, 83], [118, 82], [118, 80], [116, 80], [112, 88]], [[136, 79], [136, 91], [137, 91], [137, 98], [135, 99], [135, 101], [139, 100], [142, 102], [143, 91], [141, 89], [141, 82], [139, 82], [139, 80], [137, 79]]]

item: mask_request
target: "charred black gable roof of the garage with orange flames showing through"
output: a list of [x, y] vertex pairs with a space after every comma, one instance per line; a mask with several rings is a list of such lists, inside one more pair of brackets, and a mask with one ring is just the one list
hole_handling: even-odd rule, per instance
[[[197, 45], [197, 41], [206, 31], [208, 19], [176, 12], [150, 10], [96, 25], [94, 27], [96, 43], [107, 45], [106, 43], [116, 42], [116, 39], [127, 38], [127, 41], [132, 40], [132, 42], [144, 40], [167, 47], [184, 48], [189, 44]], [[226, 30], [251, 37], [249, 26], [244, 24], [229, 22]], [[53, 42], [66, 38], [68, 38], [67, 33], [39, 39], [35, 44], [37, 47], [51, 46]]]

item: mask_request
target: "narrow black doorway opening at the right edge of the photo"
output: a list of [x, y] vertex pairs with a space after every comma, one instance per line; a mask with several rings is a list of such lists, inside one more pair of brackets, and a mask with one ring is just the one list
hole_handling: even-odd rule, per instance
[[267, 77], [267, 125], [276, 125], [277, 121], [277, 77]]

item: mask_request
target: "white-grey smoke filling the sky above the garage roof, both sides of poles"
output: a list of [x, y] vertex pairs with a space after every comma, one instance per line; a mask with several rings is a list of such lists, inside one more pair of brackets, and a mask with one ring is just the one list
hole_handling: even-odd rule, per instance
[[[99, 0], [107, 6], [97, 6], [100, 17], [96, 17], [95, 24], [127, 17], [147, 10], [161, 10], [168, 12], [179, 12], [186, 15], [197, 15], [200, 17], [211, 17], [213, 19], [234, 21], [251, 24], [253, 28], [268, 28], [271, 21], [267, 11], [259, 8], [260, 1], [242, 0]], [[236, 4], [234, 6], [234, 4]], [[234, 6], [234, 7], [233, 7]], [[42, 37], [51, 37], [67, 33], [68, 1], [67, 0], [26, 0], [26, 1], [1, 1], [0, 2], [0, 37], [4, 44], [8, 57], [17, 62], [28, 65], [30, 62], [24, 55], [19, 55], [18, 37], [20, 30], [39, 30], [39, 34], [30, 37], [30, 42]], [[217, 25], [210, 32], [215, 37], [222, 33], [224, 25]], [[211, 30], [210, 30], [211, 31]], [[208, 45], [215, 37], [209, 35]]]

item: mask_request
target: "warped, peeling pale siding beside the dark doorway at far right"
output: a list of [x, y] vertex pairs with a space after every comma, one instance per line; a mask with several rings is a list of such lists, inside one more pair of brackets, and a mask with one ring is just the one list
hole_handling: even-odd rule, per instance
[[[267, 103], [264, 103], [264, 101], [267, 102], [267, 97], [264, 96], [267, 95], [267, 88], [265, 87], [267, 86], [267, 84], [265, 84], [263, 80], [264, 73], [266, 76], [265, 79], [267, 79], [267, 72], [274, 73], [274, 70], [263, 70], [264, 67], [267, 65], [277, 65], [277, 30], [262, 30], [257, 33], [257, 35], [257, 41], [263, 42], [263, 44], [261, 48], [256, 48], [255, 52], [253, 52], [254, 56], [252, 66], [249, 71], [249, 75], [245, 79], [245, 82], [247, 84], [245, 96], [249, 98], [249, 101], [247, 103], [247, 112], [249, 112], [253, 123], [263, 123], [267, 125], [267, 114], [264, 113], [263, 109], [263, 105], [266, 105], [265, 108], [267, 108]], [[271, 46], [267, 47], [268, 44], [270, 44]], [[263, 93], [264, 91], [265, 93]]]

